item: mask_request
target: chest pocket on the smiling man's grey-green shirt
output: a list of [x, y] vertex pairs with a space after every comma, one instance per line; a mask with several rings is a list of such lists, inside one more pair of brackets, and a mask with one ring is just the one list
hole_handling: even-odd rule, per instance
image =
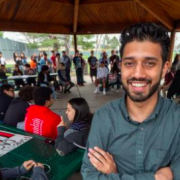
[[146, 171], [156, 172], [160, 167], [166, 165], [167, 150], [150, 149], [147, 156]]

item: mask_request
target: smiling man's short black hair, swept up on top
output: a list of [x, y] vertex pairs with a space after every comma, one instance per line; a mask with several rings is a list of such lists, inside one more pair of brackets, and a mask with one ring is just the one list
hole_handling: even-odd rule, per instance
[[170, 38], [168, 31], [155, 23], [138, 23], [132, 25], [123, 30], [120, 38], [121, 48], [120, 54], [121, 58], [123, 56], [124, 47], [127, 43], [132, 41], [150, 41], [153, 43], [158, 43], [162, 48], [162, 59], [163, 63], [168, 60], [169, 48], [170, 48]]

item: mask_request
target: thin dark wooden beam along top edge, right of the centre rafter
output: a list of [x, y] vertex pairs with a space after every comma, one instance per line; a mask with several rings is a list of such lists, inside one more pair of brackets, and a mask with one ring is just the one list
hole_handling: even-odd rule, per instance
[[107, 3], [120, 3], [120, 2], [133, 2], [133, 0], [82, 0], [80, 6], [86, 5], [97, 5], [97, 4], [107, 4]]

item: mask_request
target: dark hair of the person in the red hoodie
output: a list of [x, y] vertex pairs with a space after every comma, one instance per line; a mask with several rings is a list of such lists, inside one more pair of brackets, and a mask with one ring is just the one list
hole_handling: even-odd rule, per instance
[[49, 87], [38, 87], [33, 92], [34, 103], [39, 106], [44, 106], [46, 101], [51, 99], [52, 89]]

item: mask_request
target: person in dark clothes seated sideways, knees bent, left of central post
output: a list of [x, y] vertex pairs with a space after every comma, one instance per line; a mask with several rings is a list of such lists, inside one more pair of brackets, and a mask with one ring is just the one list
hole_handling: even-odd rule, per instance
[[69, 93], [70, 89], [74, 86], [74, 83], [67, 80], [64, 63], [60, 63], [59, 65], [58, 76], [59, 83], [64, 86], [64, 93]]

